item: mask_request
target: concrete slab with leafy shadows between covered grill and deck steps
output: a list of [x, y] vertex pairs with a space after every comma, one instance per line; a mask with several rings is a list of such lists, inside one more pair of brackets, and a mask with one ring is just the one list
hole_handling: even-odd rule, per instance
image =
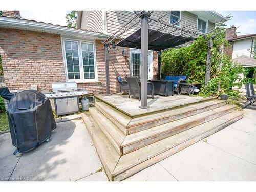
[[102, 167], [81, 120], [57, 123], [51, 138], [49, 143], [22, 155], [11, 179], [75, 181]]

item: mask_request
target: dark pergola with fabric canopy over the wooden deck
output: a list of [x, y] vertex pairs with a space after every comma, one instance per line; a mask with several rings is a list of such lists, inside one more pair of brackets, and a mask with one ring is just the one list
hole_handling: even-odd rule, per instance
[[[174, 24], [169, 24], [163, 22], [162, 18], [166, 15], [160, 17], [154, 17], [151, 12], [147, 11], [134, 11], [136, 16], [133, 17], [129, 22], [123, 25], [118, 29], [111, 37], [104, 41], [105, 48], [105, 70], [106, 70], [106, 95], [110, 95], [110, 77], [109, 77], [109, 50], [110, 46], [114, 48], [116, 46], [115, 40], [120, 37], [127, 30], [131, 29], [135, 25], [141, 22], [141, 28], [134, 32], [129, 37], [118, 42], [118, 46], [137, 48], [141, 49], [141, 65], [140, 65], [140, 82], [141, 82], [141, 106], [140, 108], [148, 108], [147, 105], [147, 54], [148, 50], [156, 51], [158, 53], [158, 69], [157, 69], [157, 78], [160, 79], [160, 67], [161, 67], [161, 52], [168, 48], [173, 48], [182, 44], [185, 44], [189, 41], [194, 40], [197, 36], [202, 34], [198, 33], [202, 29], [197, 31], [189, 29], [187, 25], [184, 27], [179, 27], [175, 24], [181, 22], [178, 20]], [[161, 26], [158, 29], [149, 29], [149, 26], [154, 24]], [[163, 33], [164, 29], [170, 28], [169, 33]], [[210, 70], [208, 70], [210, 71]], [[206, 69], [207, 72], [207, 69]]]

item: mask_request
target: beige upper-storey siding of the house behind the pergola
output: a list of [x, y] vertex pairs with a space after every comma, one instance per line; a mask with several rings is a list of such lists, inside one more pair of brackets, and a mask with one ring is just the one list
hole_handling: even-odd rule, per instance
[[[170, 11], [154, 11], [151, 15], [158, 18], [160, 16], [163, 16], [166, 14], [161, 20], [165, 23], [169, 23], [170, 18]], [[109, 35], [112, 35], [114, 32], [116, 32], [119, 28], [121, 28], [123, 25], [125, 25], [127, 22], [129, 22], [130, 19], [132, 19], [136, 14], [131, 11], [106, 11], [106, 28]], [[193, 30], [197, 30], [197, 15], [193, 13], [189, 13], [187, 11], [181, 11], [181, 27], [189, 26], [189, 28], [194, 28]], [[150, 29], [159, 29], [163, 25], [154, 23], [154, 25], [150, 25]], [[208, 22], [208, 32], [214, 31], [214, 23]], [[133, 34], [136, 30], [140, 28], [140, 23], [135, 25], [133, 28], [127, 30], [125, 33], [121, 35], [122, 38], [126, 38], [127, 36]], [[193, 31], [192, 30], [192, 31]], [[173, 31], [173, 29], [166, 28], [162, 30], [161, 32], [169, 33]]]

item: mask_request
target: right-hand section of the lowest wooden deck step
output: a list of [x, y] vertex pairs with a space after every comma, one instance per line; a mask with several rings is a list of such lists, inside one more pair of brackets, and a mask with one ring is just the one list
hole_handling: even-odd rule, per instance
[[115, 181], [123, 180], [138, 173], [181, 150], [194, 144], [243, 117], [243, 112], [233, 111], [220, 118], [198, 125], [161, 141], [147, 145], [139, 150], [120, 157], [112, 177]]

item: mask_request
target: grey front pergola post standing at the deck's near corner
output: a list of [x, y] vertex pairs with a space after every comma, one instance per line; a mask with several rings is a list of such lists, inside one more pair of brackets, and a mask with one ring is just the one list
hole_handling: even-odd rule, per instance
[[141, 105], [145, 109], [147, 106], [147, 62], [148, 62], [148, 17], [150, 14], [141, 11], [141, 64], [140, 64], [140, 83], [141, 83]]

